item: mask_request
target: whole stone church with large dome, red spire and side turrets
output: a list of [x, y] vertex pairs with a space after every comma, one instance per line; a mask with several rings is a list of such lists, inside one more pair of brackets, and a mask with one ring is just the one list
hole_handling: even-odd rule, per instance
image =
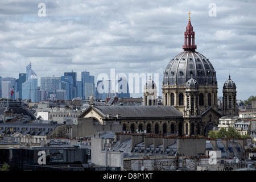
[[[171, 59], [164, 71], [163, 106], [156, 105], [156, 85], [150, 78], [144, 86], [144, 106], [96, 107], [92, 101], [79, 116], [79, 122], [93, 118], [90, 122], [94, 126], [108, 125], [105, 127], [108, 130], [179, 136], [207, 136], [210, 130], [217, 130], [223, 115], [238, 114], [232, 111], [236, 110], [236, 85], [230, 80], [224, 84], [226, 105], [222, 108], [222, 115], [217, 111], [216, 71], [207, 57], [196, 52], [196, 48], [195, 32], [189, 18], [184, 32], [184, 51]], [[80, 130], [82, 127], [86, 124]], [[90, 131], [93, 130], [92, 126]]]

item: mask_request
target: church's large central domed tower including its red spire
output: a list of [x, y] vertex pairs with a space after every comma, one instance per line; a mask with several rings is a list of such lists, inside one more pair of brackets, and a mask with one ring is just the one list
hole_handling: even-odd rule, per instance
[[[195, 32], [190, 19], [191, 13], [189, 12], [188, 14], [188, 24], [184, 32], [184, 51], [171, 59], [163, 72], [163, 104], [174, 106], [175, 109], [181, 112], [184, 109], [188, 110], [188, 107], [185, 108], [187, 104], [186, 97], [188, 96], [186, 84], [192, 76], [198, 85], [198, 99], [195, 100], [198, 102], [198, 108], [193, 109], [189, 106], [192, 109], [190, 109], [192, 113], [195, 113], [195, 111], [203, 113], [209, 107], [217, 110], [218, 85], [216, 71], [209, 59], [196, 51]], [[192, 100], [190, 103], [193, 104]]]

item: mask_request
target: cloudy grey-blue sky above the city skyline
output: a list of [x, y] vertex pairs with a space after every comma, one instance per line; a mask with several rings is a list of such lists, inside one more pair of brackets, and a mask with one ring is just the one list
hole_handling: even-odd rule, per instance
[[230, 73], [237, 99], [246, 100], [256, 96], [255, 7], [254, 0], [1, 1], [0, 76], [18, 78], [31, 62], [39, 86], [40, 77], [73, 70], [81, 80], [82, 71], [97, 78], [114, 69], [159, 74], [161, 88], [164, 69], [183, 51], [191, 11], [196, 51], [217, 71], [218, 96]]

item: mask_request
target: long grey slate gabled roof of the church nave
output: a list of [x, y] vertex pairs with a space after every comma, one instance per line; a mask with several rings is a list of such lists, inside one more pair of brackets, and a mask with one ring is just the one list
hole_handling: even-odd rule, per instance
[[120, 114], [121, 118], [183, 117], [183, 113], [172, 106], [94, 106], [88, 107], [80, 115], [80, 118], [84, 117], [92, 108], [101, 114], [102, 117], [107, 117], [108, 114], [111, 114], [112, 117]]

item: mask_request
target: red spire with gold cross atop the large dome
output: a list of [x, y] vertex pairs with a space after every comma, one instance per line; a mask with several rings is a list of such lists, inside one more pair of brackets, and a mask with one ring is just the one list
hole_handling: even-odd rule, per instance
[[184, 32], [184, 45], [182, 46], [184, 51], [195, 51], [195, 32], [193, 31], [192, 24], [190, 22], [190, 11], [189, 11], [188, 25], [186, 31]]

